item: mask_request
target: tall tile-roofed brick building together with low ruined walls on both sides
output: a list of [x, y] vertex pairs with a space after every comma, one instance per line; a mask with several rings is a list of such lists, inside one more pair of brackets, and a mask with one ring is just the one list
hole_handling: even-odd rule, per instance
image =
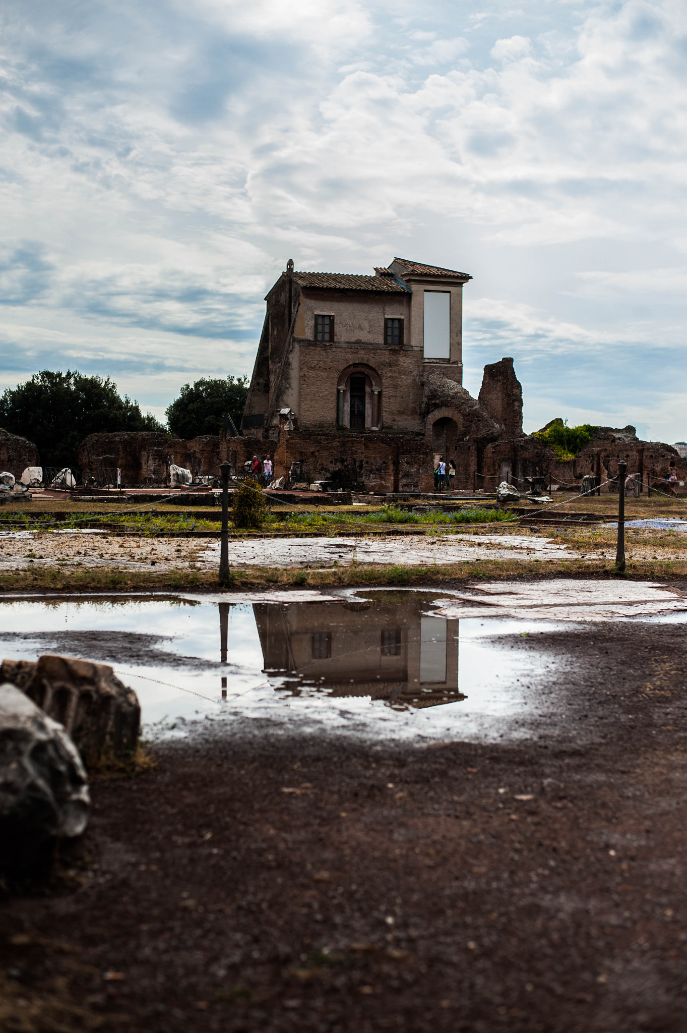
[[[270, 455], [275, 477], [330, 489], [429, 492], [439, 456], [456, 465], [459, 491], [494, 491], [526, 478], [581, 488], [586, 474], [610, 481], [628, 473], [664, 484], [670, 461], [687, 481], [687, 462], [670, 445], [640, 441], [634, 428], [594, 429], [575, 460], [522, 429], [522, 387], [512, 358], [485, 366], [477, 399], [462, 386], [462, 291], [470, 276], [394, 258], [374, 276], [298, 273], [293, 261], [266, 295], [267, 311], [238, 436], [184, 441], [166, 434], [92, 434], [80, 445], [85, 478], [121, 469], [123, 486], [161, 486], [169, 467], [236, 473]], [[23, 442], [21, 474], [35, 465]], [[21, 449], [20, 449], [21, 450]], [[21, 469], [20, 469], [21, 467]]]

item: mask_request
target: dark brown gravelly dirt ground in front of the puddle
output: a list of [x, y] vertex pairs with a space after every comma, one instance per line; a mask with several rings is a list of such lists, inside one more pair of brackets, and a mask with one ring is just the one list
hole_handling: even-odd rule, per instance
[[0, 903], [0, 1029], [687, 1027], [682, 624], [563, 658], [516, 743], [202, 726], [100, 777], [83, 844]]

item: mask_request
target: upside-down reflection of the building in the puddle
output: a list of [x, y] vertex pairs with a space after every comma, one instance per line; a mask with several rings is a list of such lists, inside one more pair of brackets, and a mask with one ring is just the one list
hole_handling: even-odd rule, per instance
[[333, 696], [371, 696], [392, 707], [456, 702], [458, 621], [426, 617], [426, 600], [256, 603], [266, 674], [298, 695], [316, 686]]

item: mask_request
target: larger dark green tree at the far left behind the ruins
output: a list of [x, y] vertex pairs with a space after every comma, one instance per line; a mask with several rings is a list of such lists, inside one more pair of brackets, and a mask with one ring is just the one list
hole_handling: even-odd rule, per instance
[[77, 370], [34, 373], [26, 383], [0, 396], [0, 427], [33, 441], [43, 466], [78, 465], [78, 446], [89, 434], [112, 431], [165, 431], [138, 402], [122, 398], [109, 377], [88, 377]]

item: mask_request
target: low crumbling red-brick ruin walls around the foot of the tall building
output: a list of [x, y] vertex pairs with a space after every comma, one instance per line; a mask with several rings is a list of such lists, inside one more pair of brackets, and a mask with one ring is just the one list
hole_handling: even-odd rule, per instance
[[[437, 453], [453, 458], [457, 467], [456, 489], [473, 487], [493, 492], [509, 480], [524, 492], [524, 478], [544, 476], [561, 488], [582, 488], [585, 474], [595, 474], [597, 452], [601, 481], [617, 476], [618, 463], [624, 459], [628, 474], [647, 475], [652, 487], [665, 486], [670, 460], [678, 477], [687, 483], [687, 461], [670, 445], [640, 441], [634, 428], [599, 427], [576, 459], [559, 462], [553, 449], [539, 438], [522, 431], [522, 387], [512, 358], [485, 367], [478, 399], [458, 384], [449, 383], [439, 371], [428, 371], [423, 385], [423, 416], [426, 432], [303, 431], [286, 424], [265, 434], [230, 438], [226, 431], [185, 441], [152, 432], [94, 434], [79, 447], [79, 465], [89, 475], [98, 467], [122, 469], [125, 486], [163, 484], [169, 464], [195, 472], [218, 473], [220, 464], [229, 462], [240, 473], [254, 455], [260, 460], [270, 455], [276, 477], [284, 476], [292, 463], [301, 464], [303, 480], [333, 481], [334, 486], [358, 491], [430, 492], [433, 488], [433, 464]], [[0, 448], [3, 438], [0, 436]], [[35, 465], [35, 446], [25, 439], [29, 450], [22, 452], [19, 470]], [[17, 447], [17, 446], [14, 446]], [[30, 451], [33, 449], [32, 451]], [[0, 452], [0, 455], [2, 455]], [[31, 459], [31, 463], [28, 462]], [[7, 469], [12, 469], [7, 466]], [[17, 476], [14, 469], [12, 472]], [[604, 484], [602, 492], [617, 491], [617, 484]]]

